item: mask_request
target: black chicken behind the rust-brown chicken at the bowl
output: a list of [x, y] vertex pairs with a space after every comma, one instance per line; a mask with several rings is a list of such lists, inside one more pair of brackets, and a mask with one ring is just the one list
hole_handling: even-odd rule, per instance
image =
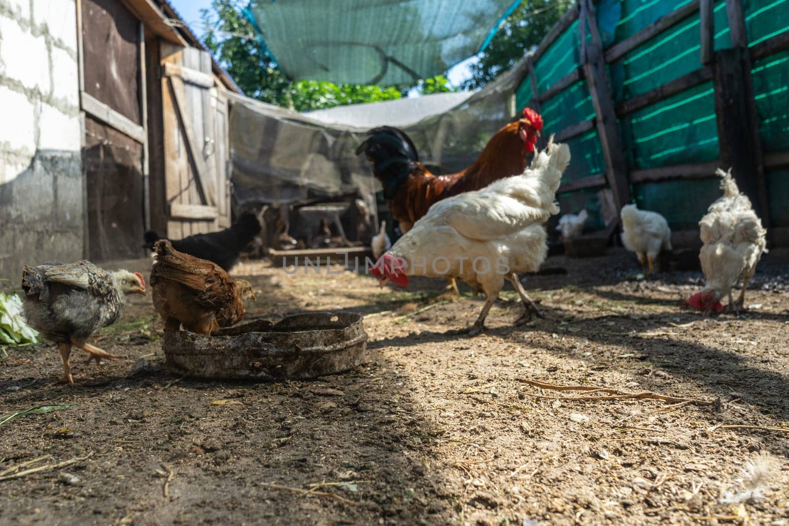
[[[230, 270], [241, 258], [241, 251], [247, 248], [252, 239], [260, 233], [260, 230], [260, 222], [256, 216], [247, 212], [241, 215], [230, 228], [221, 232], [196, 233], [178, 241], [170, 241], [170, 243], [178, 252], [184, 252], [200, 259], [208, 259], [222, 269]], [[153, 252], [153, 245], [160, 239], [163, 238], [159, 237], [158, 233], [148, 230], [145, 233], [143, 246]]]

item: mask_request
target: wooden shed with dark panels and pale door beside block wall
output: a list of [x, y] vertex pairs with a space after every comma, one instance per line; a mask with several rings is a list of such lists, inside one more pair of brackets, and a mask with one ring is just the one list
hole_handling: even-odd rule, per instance
[[85, 255], [230, 226], [233, 80], [163, 0], [77, 0], [77, 28]]

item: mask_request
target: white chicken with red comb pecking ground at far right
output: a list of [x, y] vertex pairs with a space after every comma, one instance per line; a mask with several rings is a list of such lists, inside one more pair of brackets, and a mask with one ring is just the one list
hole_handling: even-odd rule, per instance
[[[731, 170], [716, 173], [723, 177], [720, 188], [724, 195], [710, 205], [707, 215], [698, 223], [704, 243], [698, 258], [706, 282], [701, 292], [695, 293], [686, 304], [700, 311], [722, 311], [720, 298], [728, 294], [729, 307], [739, 313], [756, 264], [762, 252], [767, 252], [767, 230], [762, 228], [750, 199], [739, 192]], [[731, 289], [739, 282], [742, 291], [735, 302]]]

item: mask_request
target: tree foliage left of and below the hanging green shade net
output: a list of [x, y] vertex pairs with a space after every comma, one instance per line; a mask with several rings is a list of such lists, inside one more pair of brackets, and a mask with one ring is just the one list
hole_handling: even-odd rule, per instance
[[413, 90], [423, 94], [456, 91], [444, 76], [410, 86], [335, 84], [323, 80], [293, 82], [277, 68], [256, 38], [252, 24], [232, 0], [212, 0], [211, 7], [202, 9], [200, 14], [206, 28], [205, 46], [246, 95], [264, 103], [308, 111], [399, 99]]

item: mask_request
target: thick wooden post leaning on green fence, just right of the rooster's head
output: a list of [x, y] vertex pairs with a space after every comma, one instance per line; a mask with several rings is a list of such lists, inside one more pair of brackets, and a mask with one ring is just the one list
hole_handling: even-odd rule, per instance
[[[580, 4], [580, 27], [584, 27], [584, 20], [589, 22], [590, 28], [596, 27], [597, 22], [592, 3], [589, 0], [580, 0]], [[594, 30], [591, 32], [592, 35], [595, 34]], [[625, 162], [622, 140], [619, 138], [611, 89], [608, 87], [606, 79], [605, 58], [601, 43], [593, 42], [586, 47], [584, 73], [597, 116], [595, 123], [597, 132], [600, 134], [600, 144], [603, 147], [608, 185], [614, 194], [614, 203], [617, 209], [620, 209], [623, 205], [630, 203], [632, 196], [630, 196], [630, 183], [627, 181], [627, 163]]]

